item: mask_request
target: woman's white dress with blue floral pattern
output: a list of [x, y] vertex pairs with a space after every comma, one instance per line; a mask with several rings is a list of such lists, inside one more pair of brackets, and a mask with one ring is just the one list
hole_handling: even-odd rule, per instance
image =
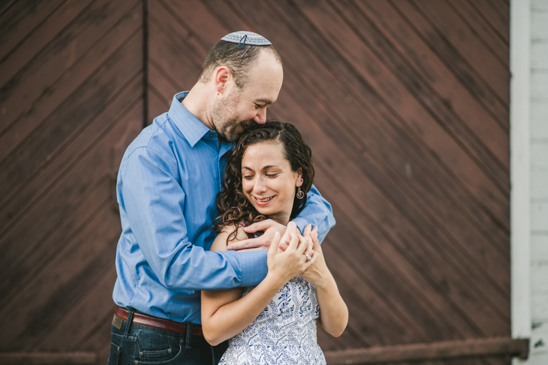
[[[253, 288], [245, 288], [243, 295]], [[325, 364], [316, 338], [316, 288], [291, 279], [242, 332], [229, 340], [219, 365]]]

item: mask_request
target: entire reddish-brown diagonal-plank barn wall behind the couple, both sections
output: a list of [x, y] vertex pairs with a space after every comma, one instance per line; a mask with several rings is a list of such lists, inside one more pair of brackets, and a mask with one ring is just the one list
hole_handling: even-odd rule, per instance
[[105, 362], [112, 171], [143, 110], [166, 112], [240, 29], [282, 55], [269, 117], [299, 127], [334, 207], [323, 249], [350, 321], [340, 338], [319, 331], [323, 349], [510, 336], [508, 1], [2, 6], [0, 351]]

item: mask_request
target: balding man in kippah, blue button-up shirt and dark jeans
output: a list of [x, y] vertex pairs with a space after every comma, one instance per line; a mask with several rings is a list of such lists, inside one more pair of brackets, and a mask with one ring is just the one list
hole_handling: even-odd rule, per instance
[[[256, 286], [266, 275], [266, 250], [210, 252], [218, 216], [216, 194], [234, 142], [246, 126], [266, 122], [266, 108], [282, 87], [282, 61], [271, 43], [251, 32], [222, 38], [210, 51], [199, 81], [173, 97], [129, 145], [117, 197], [122, 234], [112, 297], [109, 364], [216, 364], [226, 342], [211, 347], [201, 336], [199, 290]], [[334, 225], [331, 206], [313, 188], [294, 221]], [[264, 230], [242, 247], [267, 248], [286, 227]], [[236, 247], [236, 249], [241, 247]]]

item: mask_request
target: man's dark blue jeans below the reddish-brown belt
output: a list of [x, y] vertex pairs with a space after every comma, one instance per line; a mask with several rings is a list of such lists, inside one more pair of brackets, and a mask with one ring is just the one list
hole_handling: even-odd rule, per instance
[[121, 329], [112, 326], [108, 365], [218, 364], [228, 341], [211, 346], [202, 336], [190, 333], [176, 333], [124, 320]]

